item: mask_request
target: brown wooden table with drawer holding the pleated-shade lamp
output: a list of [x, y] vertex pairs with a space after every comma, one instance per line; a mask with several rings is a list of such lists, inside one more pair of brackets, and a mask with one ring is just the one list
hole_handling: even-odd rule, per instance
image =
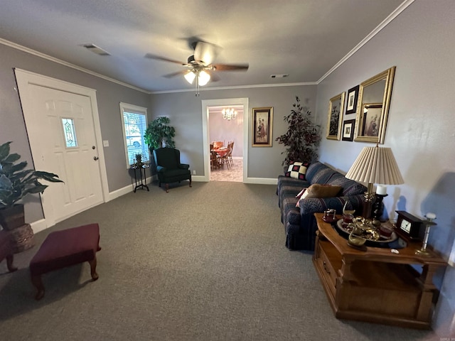
[[355, 249], [322, 216], [315, 213], [319, 230], [313, 263], [336, 318], [429, 329], [437, 294], [432, 278], [446, 261], [434, 251], [426, 257], [414, 254], [422, 242], [407, 242], [399, 254]]

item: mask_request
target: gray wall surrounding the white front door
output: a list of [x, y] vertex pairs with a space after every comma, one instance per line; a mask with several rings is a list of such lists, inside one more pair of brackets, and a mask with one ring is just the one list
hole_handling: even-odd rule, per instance
[[[149, 94], [1, 44], [0, 60], [0, 144], [13, 141], [11, 151], [19, 153], [23, 160], [30, 166], [33, 165], [21, 104], [16, 91], [14, 67], [90, 87], [97, 90], [102, 139], [109, 141], [109, 147], [104, 147], [109, 192], [132, 183], [124, 155], [119, 103], [127, 102], [149, 107]], [[99, 147], [102, 147], [102, 143]], [[27, 197], [25, 211], [26, 222], [41, 220], [43, 211], [39, 197]]]

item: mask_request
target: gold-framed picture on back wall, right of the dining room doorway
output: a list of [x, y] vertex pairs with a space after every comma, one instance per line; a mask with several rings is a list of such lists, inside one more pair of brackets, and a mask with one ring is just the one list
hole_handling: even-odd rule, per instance
[[273, 107], [252, 109], [252, 146], [272, 146]]

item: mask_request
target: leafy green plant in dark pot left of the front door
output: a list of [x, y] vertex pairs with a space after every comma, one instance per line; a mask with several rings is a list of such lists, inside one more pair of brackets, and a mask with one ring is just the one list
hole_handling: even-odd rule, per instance
[[25, 224], [23, 204], [18, 203], [29, 194], [43, 193], [51, 183], [63, 183], [58, 175], [43, 171], [24, 169], [27, 161], [16, 163], [21, 156], [10, 153], [11, 141], [0, 146], [0, 224], [6, 230], [15, 229]]

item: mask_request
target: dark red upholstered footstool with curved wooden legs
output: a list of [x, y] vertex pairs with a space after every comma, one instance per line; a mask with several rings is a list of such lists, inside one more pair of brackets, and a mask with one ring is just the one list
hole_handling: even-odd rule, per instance
[[44, 296], [41, 275], [66, 266], [88, 261], [92, 279], [96, 281], [98, 279], [96, 254], [101, 249], [99, 243], [98, 224], [51, 232], [30, 261], [31, 281], [38, 289], [35, 298], [39, 300]]

